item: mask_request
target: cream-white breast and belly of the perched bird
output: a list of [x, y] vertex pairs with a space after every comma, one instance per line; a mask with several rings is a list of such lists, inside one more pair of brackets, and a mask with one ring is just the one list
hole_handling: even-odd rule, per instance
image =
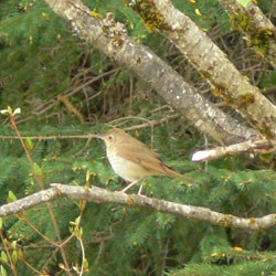
[[150, 176], [148, 170], [142, 167], [118, 156], [114, 151], [107, 151], [107, 158], [114, 171], [126, 181], [134, 182]]

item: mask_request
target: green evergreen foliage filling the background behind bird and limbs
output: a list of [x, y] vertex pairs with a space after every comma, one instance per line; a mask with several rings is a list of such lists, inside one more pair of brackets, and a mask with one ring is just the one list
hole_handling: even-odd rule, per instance
[[[197, 88], [210, 89], [169, 41], [145, 26], [123, 1], [84, 3], [94, 17], [104, 18], [113, 11], [132, 38], [153, 49]], [[237, 67], [244, 67], [273, 102], [275, 71], [261, 63], [242, 35], [232, 31], [216, 1], [174, 4], [205, 30]], [[269, 11], [273, 1], [261, 4], [264, 12]], [[203, 164], [190, 161], [191, 152], [206, 144], [202, 135], [141, 79], [125, 67], [118, 68], [75, 32], [43, 1], [3, 0], [0, 6], [0, 109], [21, 108], [14, 123], [1, 115], [1, 205], [51, 183], [123, 189], [125, 183], [107, 162], [104, 145], [77, 136], [103, 132], [110, 125], [125, 128], [168, 117], [152, 128], [137, 127], [131, 135], [158, 149], [169, 166], [193, 181], [148, 178], [145, 195], [241, 217], [275, 212], [273, 155], [233, 156]], [[0, 222], [3, 276], [66, 275], [67, 267], [77, 275], [82, 269], [86, 275], [171, 276], [276, 272], [275, 227], [248, 232], [226, 222], [217, 226], [131, 204], [66, 199]], [[59, 247], [59, 242], [63, 246]]]

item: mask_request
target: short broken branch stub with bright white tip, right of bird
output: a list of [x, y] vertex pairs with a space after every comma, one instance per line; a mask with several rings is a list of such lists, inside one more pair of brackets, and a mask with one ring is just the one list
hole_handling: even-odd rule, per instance
[[229, 147], [217, 147], [214, 149], [195, 151], [192, 156], [192, 161], [206, 161], [219, 159], [226, 155], [236, 155], [246, 151], [257, 151], [262, 153], [273, 152], [276, 150], [276, 141], [258, 140], [245, 141]]

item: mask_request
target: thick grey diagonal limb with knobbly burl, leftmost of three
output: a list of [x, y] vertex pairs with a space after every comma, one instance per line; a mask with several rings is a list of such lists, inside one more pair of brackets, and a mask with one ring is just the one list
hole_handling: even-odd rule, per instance
[[219, 142], [241, 142], [256, 137], [250, 129], [230, 118], [149, 49], [126, 35], [126, 30], [110, 14], [99, 20], [79, 0], [44, 0], [54, 12], [66, 18], [73, 30], [119, 64], [127, 65], [148, 82], [168, 104], [178, 109], [191, 124]]

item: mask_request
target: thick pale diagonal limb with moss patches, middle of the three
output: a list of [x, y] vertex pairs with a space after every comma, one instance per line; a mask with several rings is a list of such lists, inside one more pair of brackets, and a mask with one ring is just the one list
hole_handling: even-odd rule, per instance
[[226, 55], [170, 0], [127, 1], [147, 25], [158, 29], [187, 56], [215, 88], [225, 104], [238, 112], [267, 139], [276, 138], [276, 106], [247, 77], [241, 75]]

